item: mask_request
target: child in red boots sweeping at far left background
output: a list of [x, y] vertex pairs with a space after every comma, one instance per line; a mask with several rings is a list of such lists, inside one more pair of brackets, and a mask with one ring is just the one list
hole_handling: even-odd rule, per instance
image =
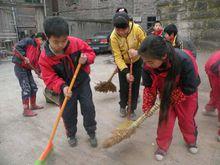
[[14, 72], [21, 87], [24, 109], [23, 115], [25, 117], [36, 116], [37, 113], [32, 110], [43, 108], [42, 106], [36, 104], [36, 94], [38, 88], [31, 70], [34, 69], [37, 74], [40, 72], [38, 65], [40, 46], [45, 40], [46, 36], [44, 33], [37, 33], [33, 38], [25, 38], [15, 45], [12, 62], [15, 63]]

